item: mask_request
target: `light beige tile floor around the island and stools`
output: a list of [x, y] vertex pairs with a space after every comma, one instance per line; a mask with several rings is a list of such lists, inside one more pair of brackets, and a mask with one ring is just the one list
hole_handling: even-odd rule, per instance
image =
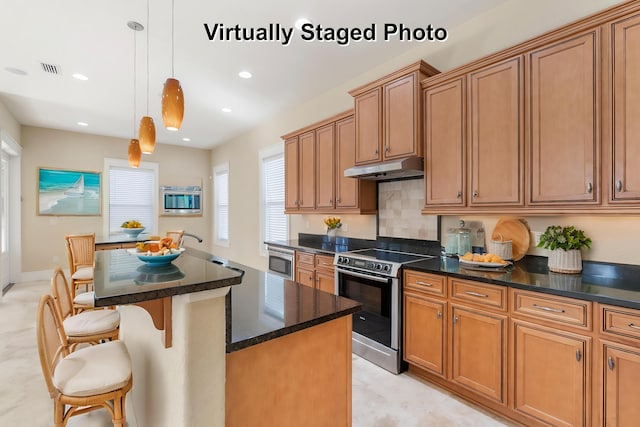
[[[45, 292], [47, 281], [19, 283], [0, 298], [0, 426], [52, 425], [35, 335], [37, 303]], [[74, 417], [68, 424], [109, 425], [106, 411]], [[411, 375], [393, 375], [353, 357], [353, 427], [512, 425]]]

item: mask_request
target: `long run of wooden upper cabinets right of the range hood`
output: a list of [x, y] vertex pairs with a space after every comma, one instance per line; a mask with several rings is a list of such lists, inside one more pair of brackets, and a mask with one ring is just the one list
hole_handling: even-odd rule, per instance
[[623, 2], [424, 79], [423, 212], [640, 212], [638, 69]]

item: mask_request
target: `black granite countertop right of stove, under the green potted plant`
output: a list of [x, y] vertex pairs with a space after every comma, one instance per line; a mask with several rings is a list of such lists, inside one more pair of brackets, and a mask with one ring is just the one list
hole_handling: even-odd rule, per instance
[[636, 265], [584, 261], [582, 274], [562, 274], [548, 270], [546, 257], [528, 255], [501, 272], [469, 270], [450, 257], [405, 268], [640, 309], [640, 266]]

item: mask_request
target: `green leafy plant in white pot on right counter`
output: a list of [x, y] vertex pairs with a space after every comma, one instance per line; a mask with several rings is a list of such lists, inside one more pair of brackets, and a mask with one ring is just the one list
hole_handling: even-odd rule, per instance
[[582, 248], [591, 247], [584, 231], [570, 225], [550, 225], [540, 236], [538, 247], [549, 249], [549, 270], [556, 273], [580, 273]]

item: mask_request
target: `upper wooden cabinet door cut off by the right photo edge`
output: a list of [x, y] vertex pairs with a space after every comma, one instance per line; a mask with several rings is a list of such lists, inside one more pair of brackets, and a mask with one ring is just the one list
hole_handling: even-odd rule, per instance
[[611, 25], [612, 200], [640, 200], [640, 15]]

